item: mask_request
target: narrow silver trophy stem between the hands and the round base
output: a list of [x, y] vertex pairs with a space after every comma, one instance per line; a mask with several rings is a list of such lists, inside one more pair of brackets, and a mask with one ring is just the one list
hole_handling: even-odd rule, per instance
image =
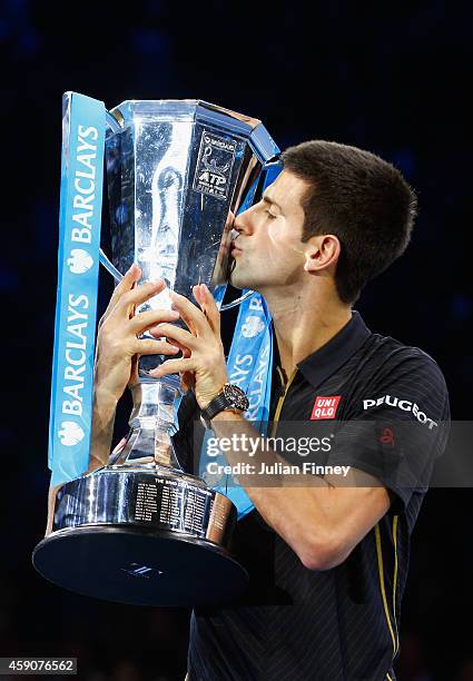
[[112, 465], [139, 464], [181, 471], [171, 442], [179, 388], [167, 381], [145, 379], [131, 387], [131, 395], [130, 434]]

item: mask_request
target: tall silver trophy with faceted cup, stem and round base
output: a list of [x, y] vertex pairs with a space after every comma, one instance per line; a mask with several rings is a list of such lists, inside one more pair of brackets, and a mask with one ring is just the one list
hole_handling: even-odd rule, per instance
[[[106, 168], [116, 279], [135, 261], [187, 297], [229, 278], [231, 214], [250, 205], [278, 148], [257, 119], [197, 100], [125, 101], [107, 114]], [[165, 289], [138, 312], [168, 307]], [[223, 309], [224, 307], [221, 307]], [[148, 605], [230, 601], [247, 583], [233, 557], [236, 507], [183, 470], [174, 445], [179, 377], [139, 359], [125, 447], [65, 483], [33, 554], [48, 580]]]

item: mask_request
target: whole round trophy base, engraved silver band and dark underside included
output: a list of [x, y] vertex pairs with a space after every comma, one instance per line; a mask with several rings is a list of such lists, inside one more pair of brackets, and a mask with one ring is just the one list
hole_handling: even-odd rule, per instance
[[47, 580], [137, 605], [228, 603], [248, 583], [231, 555], [236, 507], [198, 477], [109, 465], [57, 492], [52, 532], [33, 552]]

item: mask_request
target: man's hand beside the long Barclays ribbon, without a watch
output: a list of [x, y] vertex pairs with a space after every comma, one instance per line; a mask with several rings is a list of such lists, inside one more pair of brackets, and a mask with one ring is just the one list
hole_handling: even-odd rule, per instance
[[139, 355], [175, 355], [179, 352], [169, 343], [138, 337], [160, 322], [176, 322], [179, 318], [179, 314], [173, 309], [152, 309], [135, 315], [137, 305], [166, 287], [162, 279], [136, 286], [140, 276], [140, 268], [131, 265], [116, 287], [99, 323], [95, 389], [96, 395], [102, 395], [108, 402], [118, 402], [127, 385], [137, 383]]

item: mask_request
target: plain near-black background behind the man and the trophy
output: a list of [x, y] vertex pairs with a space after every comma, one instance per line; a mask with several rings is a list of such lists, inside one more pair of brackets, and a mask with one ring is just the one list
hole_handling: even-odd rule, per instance
[[[416, 189], [406, 255], [363, 295], [373, 330], [441, 365], [472, 417], [472, 16], [467, 2], [0, 3], [3, 309], [0, 655], [79, 658], [89, 681], [184, 679], [188, 612], [131, 608], [42, 580], [56, 300], [61, 95], [201, 98], [380, 154]], [[391, 8], [391, 9], [390, 9]], [[102, 304], [111, 283], [102, 277]], [[473, 679], [470, 490], [434, 490], [413, 535], [402, 681]], [[90, 566], [93, 572], [93, 566]]]

